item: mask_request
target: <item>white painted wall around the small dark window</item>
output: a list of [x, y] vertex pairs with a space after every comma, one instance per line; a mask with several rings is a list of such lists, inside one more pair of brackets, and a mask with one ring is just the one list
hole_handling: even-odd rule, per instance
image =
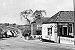
[[[54, 32], [54, 30], [57, 29], [56, 23], [50, 23], [50, 24], [43, 24], [42, 25], [42, 38], [49, 40], [49, 37], [47, 37], [48, 36], [48, 30], [47, 29], [50, 28], [51, 25], [53, 26], [52, 27], [51, 40], [56, 41], [57, 33]], [[56, 25], [56, 28], [55, 28], [55, 25]]]

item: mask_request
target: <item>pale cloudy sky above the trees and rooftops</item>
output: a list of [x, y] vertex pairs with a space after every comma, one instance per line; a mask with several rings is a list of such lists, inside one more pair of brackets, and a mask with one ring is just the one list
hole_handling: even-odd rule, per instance
[[26, 9], [46, 10], [46, 17], [58, 11], [73, 11], [73, 0], [0, 0], [0, 23], [25, 24], [20, 12]]

